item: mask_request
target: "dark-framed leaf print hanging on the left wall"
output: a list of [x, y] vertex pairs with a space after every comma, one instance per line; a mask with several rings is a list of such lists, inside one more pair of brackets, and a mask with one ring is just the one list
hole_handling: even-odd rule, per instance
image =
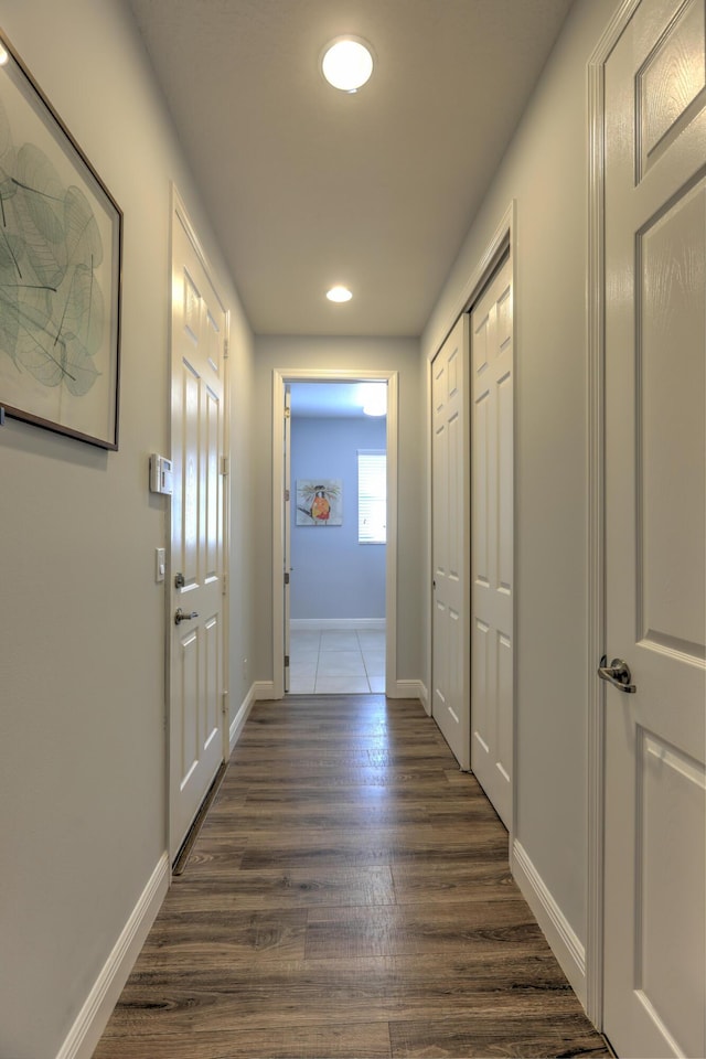
[[122, 212], [0, 32], [0, 407], [118, 448]]

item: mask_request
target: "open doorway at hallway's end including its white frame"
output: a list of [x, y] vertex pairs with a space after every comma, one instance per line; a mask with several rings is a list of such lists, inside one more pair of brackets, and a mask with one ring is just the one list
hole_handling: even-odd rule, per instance
[[275, 697], [394, 694], [397, 373], [275, 371], [274, 402]]

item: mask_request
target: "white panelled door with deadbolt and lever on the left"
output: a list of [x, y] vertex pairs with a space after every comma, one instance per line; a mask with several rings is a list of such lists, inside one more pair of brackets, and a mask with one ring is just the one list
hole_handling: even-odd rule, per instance
[[[172, 231], [170, 853], [223, 761], [226, 313], [179, 211]], [[178, 617], [183, 620], [178, 622]]]

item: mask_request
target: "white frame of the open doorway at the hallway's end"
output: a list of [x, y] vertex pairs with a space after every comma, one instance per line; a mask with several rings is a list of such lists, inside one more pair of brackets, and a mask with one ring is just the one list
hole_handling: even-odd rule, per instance
[[[398, 373], [387, 371], [272, 370], [272, 684], [274, 698], [285, 694], [285, 541], [281, 520], [284, 485], [284, 416], [287, 383], [387, 383], [387, 544], [385, 546], [385, 694], [397, 691], [397, 384]], [[405, 693], [406, 694], [406, 693]], [[403, 695], [404, 697], [404, 695]]]

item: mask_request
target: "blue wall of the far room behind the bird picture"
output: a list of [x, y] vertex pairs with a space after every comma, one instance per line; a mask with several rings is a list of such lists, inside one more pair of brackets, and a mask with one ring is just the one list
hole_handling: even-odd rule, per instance
[[[291, 618], [384, 618], [385, 545], [357, 543], [357, 450], [385, 449], [382, 419], [291, 421]], [[342, 526], [298, 526], [297, 480], [343, 482]]]

